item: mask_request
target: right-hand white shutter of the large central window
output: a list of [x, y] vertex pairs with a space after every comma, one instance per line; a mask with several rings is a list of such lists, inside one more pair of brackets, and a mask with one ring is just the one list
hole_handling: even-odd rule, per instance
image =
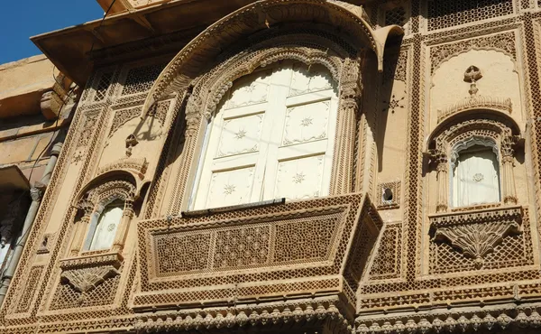
[[[296, 66], [284, 98], [276, 161], [268, 170], [267, 198], [310, 199], [329, 194], [337, 98], [322, 66]], [[271, 170], [272, 169], [272, 170]]]

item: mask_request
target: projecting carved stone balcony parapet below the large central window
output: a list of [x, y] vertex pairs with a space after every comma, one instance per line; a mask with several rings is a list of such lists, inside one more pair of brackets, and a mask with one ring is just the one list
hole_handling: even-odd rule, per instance
[[[382, 224], [361, 194], [184, 217], [138, 222], [145, 288], [135, 308], [345, 294], [344, 264], [344, 275], [360, 279]], [[262, 283], [261, 274], [274, 278]], [[224, 285], [224, 276], [242, 283]], [[187, 283], [189, 292], [176, 290]]]

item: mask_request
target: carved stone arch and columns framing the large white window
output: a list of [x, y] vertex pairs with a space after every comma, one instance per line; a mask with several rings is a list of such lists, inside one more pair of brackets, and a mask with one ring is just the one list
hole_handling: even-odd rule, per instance
[[[287, 32], [271, 34], [270, 38], [262, 39], [244, 49], [229, 53], [230, 57], [219, 62], [206, 74], [193, 81], [191, 93], [186, 100], [184, 115], [186, 127], [184, 130], [184, 146], [187, 160], [179, 166], [179, 171], [187, 173], [181, 179], [188, 182], [177, 182], [175, 194], [170, 202], [170, 212], [179, 212], [183, 206], [183, 196], [187, 195], [187, 183], [194, 176], [195, 159], [199, 156], [197, 150], [202, 147], [206, 121], [215, 113], [216, 107], [234, 80], [252, 73], [261, 66], [268, 66], [280, 60], [298, 60], [308, 66], [318, 64], [325, 67], [335, 79], [338, 93], [338, 109], [335, 132], [335, 155], [331, 172], [331, 194], [351, 191], [353, 184], [354, 148], [349, 138], [356, 136], [359, 99], [362, 92], [362, 51], [344, 48], [333, 40], [331, 32], [316, 34], [306, 32]], [[265, 37], [261, 33], [259, 37]], [[336, 39], [339, 36], [335, 36]], [[188, 196], [188, 195], [187, 195]]]

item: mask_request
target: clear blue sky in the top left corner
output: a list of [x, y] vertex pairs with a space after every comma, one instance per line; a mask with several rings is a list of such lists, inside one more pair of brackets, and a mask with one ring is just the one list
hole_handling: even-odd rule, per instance
[[103, 17], [96, 0], [2, 1], [0, 12], [0, 64], [40, 54], [29, 40], [51, 32]]

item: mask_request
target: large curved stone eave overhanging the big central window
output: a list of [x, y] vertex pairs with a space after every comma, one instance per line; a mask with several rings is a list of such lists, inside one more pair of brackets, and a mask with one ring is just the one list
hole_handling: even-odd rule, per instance
[[[284, 11], [293, 5], [307, 5], [310, 10], [292, 10], [290, 13]], [[146, 116], [151, 106], [164, 96], [188, 88], [207, 63], [225, 47], [254, 32], [282, 22], [320, 21], [356, 34], [363, 44], [367, 44], [376, 53], [378, 70], [381, 71], [385, 42], [389, 36], [402, 34], [403, 31], [398, 25], [374, 31], [365, 16], [362, 7], [336, 0], [260, 0], [246, 5], [207, 27], [179, 51], [152, 85], [142, 107], [142, 117]], [[328, 20], [329, 17], [333, 19]]]

